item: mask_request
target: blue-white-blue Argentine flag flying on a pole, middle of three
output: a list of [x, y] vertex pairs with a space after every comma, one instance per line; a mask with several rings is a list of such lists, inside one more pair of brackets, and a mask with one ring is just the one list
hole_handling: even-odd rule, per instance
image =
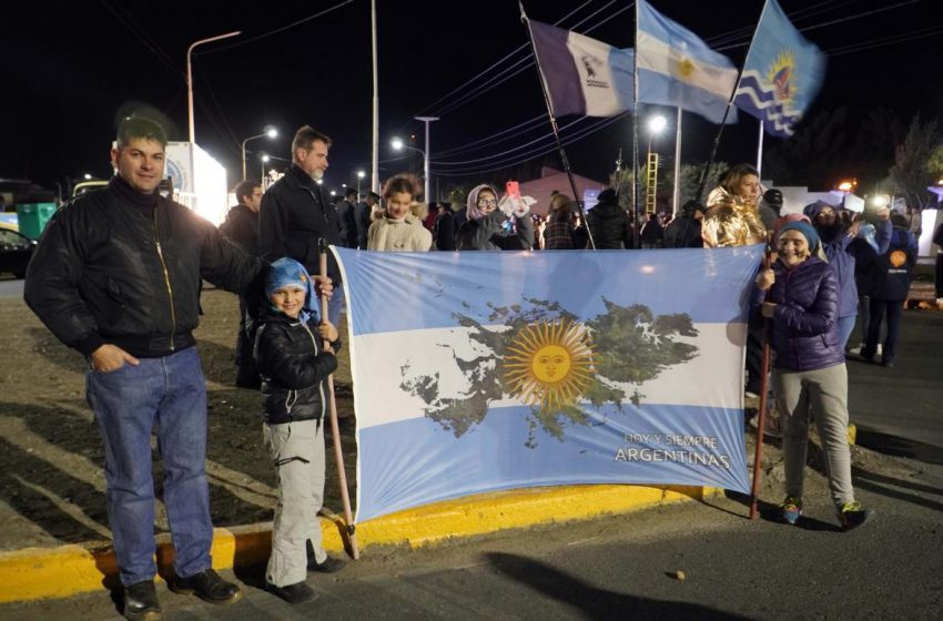
[[[638, 0], [639, 101], [673, 105], [720, 123], [737, 85], [737, 68], [697, 34]], [[736, 122], [736, 114], [728, 122]]]

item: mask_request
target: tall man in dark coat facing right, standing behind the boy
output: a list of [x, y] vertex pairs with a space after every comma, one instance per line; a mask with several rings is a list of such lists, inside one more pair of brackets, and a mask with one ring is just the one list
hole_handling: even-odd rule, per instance
[[[318, 240], [341, 245], [337, 211], [324, 198], [320, 181], [327, 170], [331, 139], [304, 125], [292, 141], [292, 166], [262, 197], [258, 212], [258, 245], [262, 256], [272, 262], [294, 258], [310, 274], [320, 274]], [[334, 255], [327, 254], [327, 276], [334, 285], [328, 317], [338, 320], [344, 312], [341, 271]], [[318, 276], [312, 276], [317, 279]]]

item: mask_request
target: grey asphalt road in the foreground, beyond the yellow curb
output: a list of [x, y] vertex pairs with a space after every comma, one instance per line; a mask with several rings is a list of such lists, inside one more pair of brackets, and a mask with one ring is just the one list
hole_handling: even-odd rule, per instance
[[[311, 578], [321, 597], [298, 607], [263, 591], [257, 568], [237, 573], [245, 598], [233, 605], [159, 594], [168, 621], [939, 620], [943, 489], [886, 480], [861, 500], [875, 519], [848, 533], [827, 500], [790, 527], [750, 521], [720, 498], [429, 550], [371, 550], [336, 578]], [[118, 610], [101, 591], [0, 607], [0, 618], [119, 619]]]

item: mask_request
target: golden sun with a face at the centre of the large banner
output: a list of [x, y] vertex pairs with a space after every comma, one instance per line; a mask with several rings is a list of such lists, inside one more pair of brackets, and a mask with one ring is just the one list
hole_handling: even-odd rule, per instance
[[524, 326], [505, 356], [510, 394], [544, 409], [576, 403], [592, 379], [589, 345], [586, 328], [569, 319]]

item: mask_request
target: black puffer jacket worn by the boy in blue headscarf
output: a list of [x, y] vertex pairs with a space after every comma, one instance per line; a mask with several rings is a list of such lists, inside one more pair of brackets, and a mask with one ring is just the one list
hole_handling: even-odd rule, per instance
[[265, 423], [324, 416], [324, 380], [337, 368], [337, 358], [321, 350], [314, 319], [305, 324], [268, 310], [255, 335], [255, 365], [262, 376]]

